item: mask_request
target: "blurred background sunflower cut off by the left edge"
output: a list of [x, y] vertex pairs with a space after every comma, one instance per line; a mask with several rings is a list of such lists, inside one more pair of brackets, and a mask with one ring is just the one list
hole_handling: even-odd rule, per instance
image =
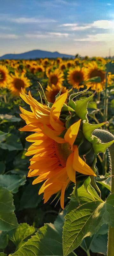
[[6, 87], [9, 83], [9, 71], [5, 66], [0, 65], [0, 87]]

